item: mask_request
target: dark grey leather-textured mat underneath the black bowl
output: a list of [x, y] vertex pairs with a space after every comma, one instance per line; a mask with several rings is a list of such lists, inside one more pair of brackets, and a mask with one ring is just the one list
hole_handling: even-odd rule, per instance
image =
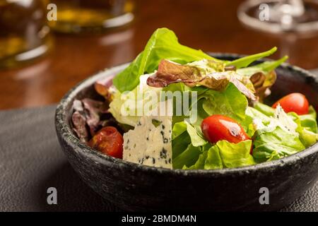
[[[55, 106], [0, 112], [0, 211], [117, 211], [84, 184], [55, 134]], [[57, 205], [47, 204], [56, 187]], [[283, 211], [318, 211], [318, 183]]]

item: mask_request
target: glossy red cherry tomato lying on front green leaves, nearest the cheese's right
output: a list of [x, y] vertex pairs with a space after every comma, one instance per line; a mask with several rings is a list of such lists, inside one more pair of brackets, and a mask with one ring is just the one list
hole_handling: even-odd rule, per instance
[[220, 114], [213, 114], [206, 117], [201, 124], [204, 136], [211, 143], [226, 140], [230, 143], [239, 143], [240, 141], [250, 140], [242, 126], [234, 119]]

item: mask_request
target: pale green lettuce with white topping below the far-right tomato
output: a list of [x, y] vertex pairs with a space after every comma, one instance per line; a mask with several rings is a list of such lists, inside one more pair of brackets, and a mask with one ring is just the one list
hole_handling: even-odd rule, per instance
[[273, 109], [256, 103], [248, 107], [255, 126], [253, 156], [257, 162], [279, 159], [298, 153], [318, 140], [316, 112], [310, 106], [309, 114], [285, 114], [281, 107]]

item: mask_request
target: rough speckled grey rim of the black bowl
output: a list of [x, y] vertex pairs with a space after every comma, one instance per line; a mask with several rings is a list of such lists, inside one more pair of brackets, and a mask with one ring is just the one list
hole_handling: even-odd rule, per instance
[[[208, 53], [213, 54], [213, 57], [223, 57], [223, 58], [230, 58], [230, 57], [244, 57], [245, 55], [242, 54], [232, 54], [232, 53]], [[271, 59], [261, 59], [259, 62], [264, 60], [271, 60]], [[81, 150], [81, 155], [85, 155], [86, 157], [90, 157], [94, 160], [94, 162], [98, 162], [100, 164], [117, 166], [119, 168], [126, 168], [126, 169], [134, 169], [134, 170], [141, 170], [143, 172], [156, 172], [161, 174], [178, 174], [180, 176], [192, 176], [192, 175], [201, 175], [201, 176], [211, 176], [211, 175], [224, 175], [224, 174], [237, 174], [237, 173], [243, 173], [243, 172], [254, 172], [254, 171], [269, 171], [273, 168], [277, 167], [283, 167], [284, 165], [293, 165], [296, 161], [301, 160], [309, 155], [313, 155], [314, 153], [318, 153], [318, 142], [314, 145], [311, 145], [308, 148], [305, 148], [305, 150], [300, 151], [299, 153], [295, 153], [293, 155], [289, 155], [288, 157], [283, 157], [278, 160], [271, 160], [270, 162], [261, 162], [257, 163], [256, 165], [249, 165], [245, 167], [235, 167], [235, 168], [225, 168], [225, 169], [167, 169], [162, 167], [153, 167], [153, 166], [147, 166], [147, 165], [139, 165], [134, 162], [128, 162], [126, 160], [118, 159], [116, 157], [112, 157], [110, 155], [105, 155], [102, 153], [99, 153], [97, 150], [90, 148], [85, 143], [82, 143], [73, 133], [71, 130], [69, 123], [66, 117], [66, 107], [69, 107], [69, 105], [73, 105], [73, 99], [78, 95], [78, 93], [81, 92], [84, 88], [87, 88], [90, 85], [93, 85], [95, 81], [97, 81], [100, 78], [105, 78], [107, 76], [111, 76], [115, 72], [118, 73], [118, 71], [121, 71], [122, 69], [126, 68], [130, 64], [120, 64], [118, 66], [113, 66], [110, 68], [106, 68], [98, 73], [95, 73], [93, 76], [90, 76], [83, 81], [79, 82], [77, 85], [75, 85], [73, 88], [71, 88], [65, 95], [62, 97], [61, 101], [59, 102], [59, 105], [57, 105], [56, 113], [55, 113], [55, 126], [57, 135], [64, 140], [73, 151], [78, 152], [77, 150]], [[279, 66], [281, 69], [285, 70], [293, 70], [298, 73], [305, 74], [307, 77], [314, 78], [315, 82], [318, 83], [318, 76], [314, 75], [310, 71], [307, 71], [305, 69], [302, 69], [298, 66], [293, 66], [287, 63], [281, 64]], [[105, 75], [106, 74], [106, 75]], [[60, 130], [60, 128], [63, 128], [63, 132]]]

